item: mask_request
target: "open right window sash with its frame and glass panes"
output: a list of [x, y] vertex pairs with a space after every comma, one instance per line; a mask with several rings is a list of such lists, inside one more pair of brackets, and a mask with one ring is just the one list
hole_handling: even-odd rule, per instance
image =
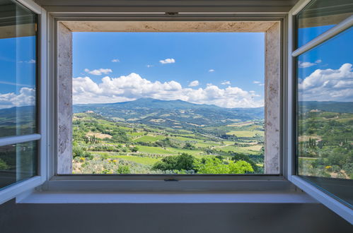
[[289, 177], [351, 223], [352, 12], [352, 1], [316, 0], [294, 16], [295, 175]]

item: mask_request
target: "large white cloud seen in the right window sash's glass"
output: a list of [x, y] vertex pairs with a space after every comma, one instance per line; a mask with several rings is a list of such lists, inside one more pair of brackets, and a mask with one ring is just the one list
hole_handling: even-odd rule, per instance
[[317, 69], [299, 82], [301, 100], [353, 101], [352, 64], [343, 64], [338, 69]]

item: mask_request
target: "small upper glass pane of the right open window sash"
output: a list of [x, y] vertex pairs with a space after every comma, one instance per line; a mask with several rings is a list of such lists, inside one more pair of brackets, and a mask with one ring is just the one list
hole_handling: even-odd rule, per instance
[[315, 0], [297, 16], [298, 47], [352, 16], [352, 0]]

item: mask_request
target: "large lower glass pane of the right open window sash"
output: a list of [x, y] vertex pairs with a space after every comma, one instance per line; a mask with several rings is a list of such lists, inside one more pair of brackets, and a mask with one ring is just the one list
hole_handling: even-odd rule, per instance
[[[353, 200], [353, 29], [298, 58], [298, 174]], [[349, 193], [347, 195], [347, 193]]]

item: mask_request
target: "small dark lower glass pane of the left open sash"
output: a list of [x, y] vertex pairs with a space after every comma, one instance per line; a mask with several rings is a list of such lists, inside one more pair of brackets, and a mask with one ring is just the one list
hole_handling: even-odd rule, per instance
[[0, 189], [37, 174], [35, 141], [0, 147]]

